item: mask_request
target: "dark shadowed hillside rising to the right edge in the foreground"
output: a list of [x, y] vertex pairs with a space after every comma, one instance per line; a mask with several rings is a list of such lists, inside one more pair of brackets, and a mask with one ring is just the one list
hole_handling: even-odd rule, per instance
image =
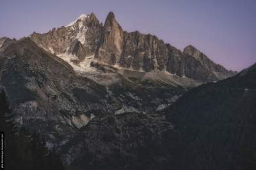
[[181, 135], [181, 169], [255, 169], [256, 65], [192, 89], [166, 109]]

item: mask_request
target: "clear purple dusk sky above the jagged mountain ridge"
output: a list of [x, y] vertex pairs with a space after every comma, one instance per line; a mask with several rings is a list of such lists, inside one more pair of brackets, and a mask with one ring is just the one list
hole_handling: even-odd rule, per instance
[[126, 31], [156, 35], [181, 50], [191, 44], [228, 69], [256, 62], [255, 0], [0, 0], [0, 37], [44, 33], [81, 13], [104, 22], [109, 11]]

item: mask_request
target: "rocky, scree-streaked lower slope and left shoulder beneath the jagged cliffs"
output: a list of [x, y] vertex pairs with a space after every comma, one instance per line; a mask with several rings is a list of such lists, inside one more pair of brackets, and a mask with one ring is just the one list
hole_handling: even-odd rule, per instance
[[93, 118], [164, 109], [186, 92], [182, 84], [191, 83], [175, 76], [125, 70], [121, 74], [97, 63], [92, 63], [92, 75], [77, 75], [67, 62], [30, 38], [1, 48], [0, 61], [1, 88], [17, 125], [44, 134], [50, 148], [63, 147]]

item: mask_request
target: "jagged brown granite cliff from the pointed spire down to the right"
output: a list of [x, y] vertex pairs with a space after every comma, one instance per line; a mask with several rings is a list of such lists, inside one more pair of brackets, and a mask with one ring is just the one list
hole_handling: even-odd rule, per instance
[[145, 72], [166, 70], [180, 77], [186, 76], [205, 82], [218, 81], [235, 74], [216, 65], [191, 45], [180, 52], [156, 36], [143, 35], [138, 31], [122, 31], [113, 13], [109, 13], [106, 19], [95, 57], [100, 62], [122, 68]]

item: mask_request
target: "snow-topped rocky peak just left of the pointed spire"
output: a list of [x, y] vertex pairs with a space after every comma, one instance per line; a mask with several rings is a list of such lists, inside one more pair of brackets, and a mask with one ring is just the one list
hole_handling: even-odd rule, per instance
[[[40, 47], [49, 50], [52, 54], [65, 52], [76, 54], [79, 50], [79, 58], [94, 54], [100, 40], [102, 24], [93, 13], [81, 15], [74, 22], [60, 28], [54, 28], [48, 33], [33, 33], [31, 39]], [[80, 47], [76, 47], [77, 42]], [[71, 48], [71, 49], [70, 49]]]

